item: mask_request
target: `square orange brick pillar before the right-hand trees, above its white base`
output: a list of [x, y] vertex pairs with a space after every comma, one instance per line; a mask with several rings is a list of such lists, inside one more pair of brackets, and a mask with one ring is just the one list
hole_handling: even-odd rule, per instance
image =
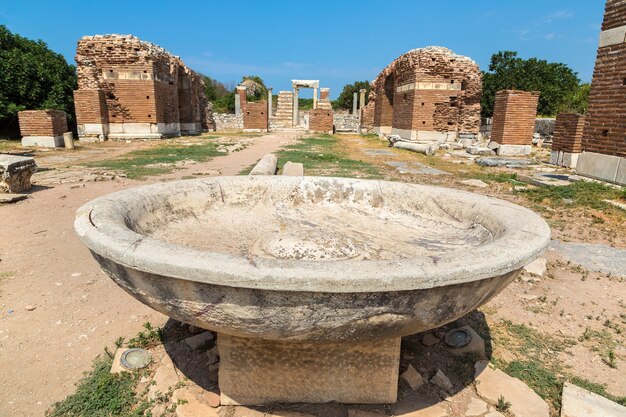
[[491, 140], [501, 145], [531, 145], [535, 131], [538, 92], [496, 92]]

